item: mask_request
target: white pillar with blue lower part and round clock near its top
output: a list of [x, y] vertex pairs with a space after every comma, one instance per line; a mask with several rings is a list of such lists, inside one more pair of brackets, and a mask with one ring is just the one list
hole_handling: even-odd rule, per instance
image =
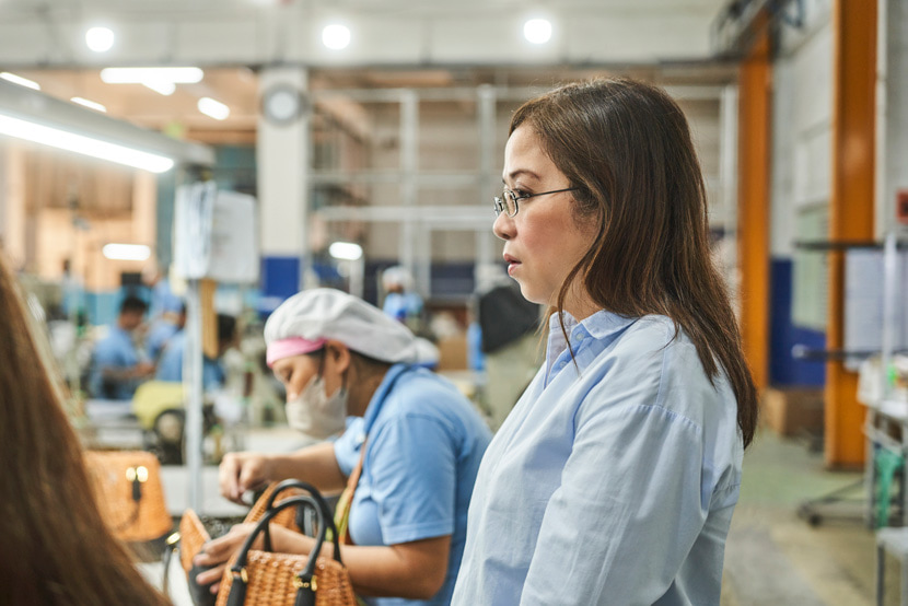
[[[260, 114], [256, 150], [264, 294], [286, 298], [312, 285], [307, 237], [311, 113], [305, 102], [309, 90], [305, 68], [263, 69], [259, 74], [263, 106], [268, 103], [269, 94], [278, 90], [298, 93], [302, 109], [284, 119]], [[279, 109], [287, 109], [288, 96], [276, 104]]]

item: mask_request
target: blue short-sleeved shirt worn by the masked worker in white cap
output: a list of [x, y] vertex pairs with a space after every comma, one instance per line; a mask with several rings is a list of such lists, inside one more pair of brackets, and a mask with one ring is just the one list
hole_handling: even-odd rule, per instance
[[469, 497], [491, 433], [454, 385], [424, 369], [396, 364], [365, 416], [354, 419], [335, 442], [345, 475], [357, 465], [366, 434], [362, 476], [350, 510], [353, 541], [396, 545], [452, 535], [447, 575], [432, 599], [381, 597], [369, 603], [449, 604], [464, 550]]

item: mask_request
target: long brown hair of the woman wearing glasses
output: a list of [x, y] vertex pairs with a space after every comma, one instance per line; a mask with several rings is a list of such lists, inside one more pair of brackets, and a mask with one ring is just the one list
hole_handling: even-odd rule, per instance
[[[561, 284], [575, 279], [603, 308], [672, 318], [713, 381], [725, 370], [748, 445], [757, 393], [725, 287], [710, 257], [707, 195], [687, 120], [662, 90], [627, 79], [561, 86], [523, 104], [526, 124], [568, 177], [574, 219], [597, 224], [595, 242]], [[563, 330], [563, 324], [562, 324]]]

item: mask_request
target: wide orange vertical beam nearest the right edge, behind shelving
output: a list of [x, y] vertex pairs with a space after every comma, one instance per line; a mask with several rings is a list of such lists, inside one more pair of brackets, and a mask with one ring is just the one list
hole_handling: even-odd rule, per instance
[[[876, 129], [876, 2], [837, 0], [833, 9], [833, 191], [829, 240], [872, 240]], [[843, 347], [845, 257], [829, 255], [828, 349]], [[858, 375], [841, 362], [826, 365], [826, 464], [864, 461], [864, 409]]]

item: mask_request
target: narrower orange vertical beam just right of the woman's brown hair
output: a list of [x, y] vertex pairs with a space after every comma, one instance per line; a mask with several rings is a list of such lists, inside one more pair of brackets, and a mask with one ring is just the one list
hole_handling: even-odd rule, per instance
[[769, 382], [769, 125], [766, 22], [738, 73], [737, 258], [744, 354], [758, 389]]

